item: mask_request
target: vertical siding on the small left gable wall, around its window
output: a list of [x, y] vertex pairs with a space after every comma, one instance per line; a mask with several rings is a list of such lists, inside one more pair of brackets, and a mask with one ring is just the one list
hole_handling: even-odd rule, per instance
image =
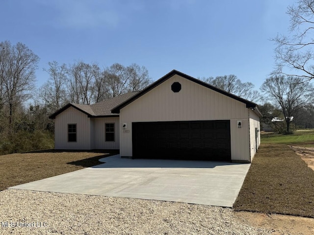
[[[77, 141], [68, 141], [68, 124], [77, 124]], [[54, 119], [55, 149], [90, 149], [90, 118], [69, 107]]]

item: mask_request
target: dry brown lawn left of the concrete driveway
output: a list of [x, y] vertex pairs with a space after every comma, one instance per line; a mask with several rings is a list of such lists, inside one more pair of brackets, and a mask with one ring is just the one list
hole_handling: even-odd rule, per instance
[[41, 150], [0, 155], [0, 191], [101, 164], [99, 159], [118, 153], [115, 150], [88, 152]]

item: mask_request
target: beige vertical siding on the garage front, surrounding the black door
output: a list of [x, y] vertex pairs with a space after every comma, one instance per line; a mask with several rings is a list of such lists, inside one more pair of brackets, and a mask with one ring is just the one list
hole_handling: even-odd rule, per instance
[[[180, 82], [182, 85], [179, 93], [171, 91], [174, 82]], [[222, 119], [230, 120], [231, 159], [250, 161], [246, 105], [174, 75], [120, 110], [120, 155], [132, 156], [132, 122]], [[242, 121], [242, 128], [237, 128], [237, 120]], [[122, 130], [124, 123], [127, 124], [126, 130]]]

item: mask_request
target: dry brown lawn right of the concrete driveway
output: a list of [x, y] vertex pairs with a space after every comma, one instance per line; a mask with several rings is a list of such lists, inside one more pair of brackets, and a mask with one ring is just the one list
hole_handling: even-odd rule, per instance
[[234, 209], [314, 218], [314, 171], [287, 145], [262, 143]]

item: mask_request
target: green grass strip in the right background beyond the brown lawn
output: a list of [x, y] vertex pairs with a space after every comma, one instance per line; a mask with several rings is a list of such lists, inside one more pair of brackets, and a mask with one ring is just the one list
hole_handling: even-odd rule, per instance
[[277, 133], [261, 134], [262, 143], [284, 143], [290, 145], [314, 145], [314, 130], [295, 131], [292, 135]]

